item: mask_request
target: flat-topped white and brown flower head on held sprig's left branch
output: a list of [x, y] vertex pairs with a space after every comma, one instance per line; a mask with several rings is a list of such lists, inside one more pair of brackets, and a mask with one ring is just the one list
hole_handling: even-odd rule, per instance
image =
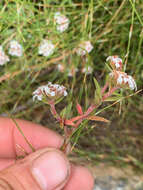
[[52, 84], [51, 82], [47, 85], [40, 86], [33, 92], [33, 100], [37, 98], [39, 101], [42, 101], [44, 97], [47, 100], [57, 100], [62, 96], [67, 96], [66, 88], [59, 84]]

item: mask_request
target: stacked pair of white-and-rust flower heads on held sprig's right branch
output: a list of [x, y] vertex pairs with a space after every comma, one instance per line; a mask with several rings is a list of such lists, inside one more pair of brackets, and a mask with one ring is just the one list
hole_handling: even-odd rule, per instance
[[113, 71], [109, 74], [109, 81], [111, 85], [119, 88], [129, 88], [137, 90], [137, 85], [132, 76], [122, 71], [122, 59], [118, 56], [109, 56], [106, 61], [110, 62]]

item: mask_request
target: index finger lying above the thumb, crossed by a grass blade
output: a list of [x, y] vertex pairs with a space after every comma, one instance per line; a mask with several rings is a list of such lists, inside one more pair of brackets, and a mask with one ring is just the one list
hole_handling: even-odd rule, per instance
[[[56, 132], [29, 121], [16, 119], [29, 143], [35, 148], [59, 148], [63, 138]], [[16, 158], [17, 155], [32, 152], [16, 124], [10, 118], [0, 118], [0, 158]]]

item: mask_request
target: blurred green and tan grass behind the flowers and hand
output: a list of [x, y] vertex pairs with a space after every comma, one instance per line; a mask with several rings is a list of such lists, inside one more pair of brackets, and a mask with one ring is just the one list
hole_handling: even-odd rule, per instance
[[[57, 11], [70, 19], [69, 29], [62, 34], [56, 31], [53, 22]], [[38, 55], [38, 46], [43, 38], [56, 44], [55, 53], [49, 58]], [[0, 67], [1, 115], [9, 112], [15, 118], [28, 119], [53, 128], [48, 107], [34, 103], [32, 92], [48, 81], [65, 85], [69, 96], [58, 105], [58, 109], [73, 102], [69, 116], [74, 115], [76, 100], [84, 108], [93, 101], [93, 77], [104, 85], [108, 73], [105, 60], [109, 55], [123, 58], [124, 70], [134, 76], [138, 89], [143, 88], [141, 0], [1, 1], [0, 44], [7, 54], [12, 39], [22, 44], [24, 55], [21, 58], [10, 57], [10, 62]], [[55, 63], [62, 63], [65, 67], [83, 66], [84, 60], [73, 49], [80, 41], [87, 39], [94, 46], [88, 55], [88, 64], [94, 68], [93, 74], [86, 76], [78, 72], [70, 78], [66, 73], [58, 72]], [[124, 96], [130, 93], [132, 92], [124, 92]], [[78, 137], [80, 140], [75, 152], [92, 161], [111, 160], [120, 163], [126, 163], [125, 158], [130, 155], [138, 164], [131, 159], [127, 163], [133, 163], [142, 169], [142, 92], [125, 98], [114, 106], [109, 105], [104, 105], [106, 109], [100, 115], [108, 118], [111, 125], [83, 125], [84, 130], [79, 129], [76, 136], [76, 140]], [[57, 130], [57, 126], [54, 128]]]

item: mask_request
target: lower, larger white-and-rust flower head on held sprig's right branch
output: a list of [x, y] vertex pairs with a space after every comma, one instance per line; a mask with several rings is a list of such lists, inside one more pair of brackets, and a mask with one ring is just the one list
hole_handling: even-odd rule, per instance
[[120, 88], [129, 88], [131, 90], [137, 90], [137, 85], [132, 76], [127, 75], [125, 72], [113, 71], [109, 74], [111, 82]]

